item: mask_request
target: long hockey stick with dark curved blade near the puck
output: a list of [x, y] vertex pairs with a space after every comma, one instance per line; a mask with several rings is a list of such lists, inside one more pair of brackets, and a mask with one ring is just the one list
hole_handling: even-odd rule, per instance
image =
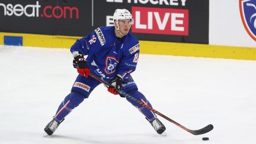
[[[104, 85], [107, 85], [107, 87], [111, 87], [112, 85], [108, 84], [107, 82], [105, 82], [103, 79], [98, 78], [97, 76], [95, 76], [94, 74], [90, 73], [89, 74], [92, 78], [97, 79], [98, 81], [102, 82]], [[149, 105], [143, 103], [140, 100], [137, 100], [136, 98], [132, 97], [132, 95], [127, 94], [124, 91], [117, 91], [119, 92], [119, 94], [124, 95], [124, 97], [130, 98], [130, 100], [135, 101], [136, 103], [142, 105], [145, 108], [148, 108], [149, 110], [153, 111], [153, 113], [158, 114], [159, 116], [163, 117], [164, 119], [170, 121], [171, 123], [175, 124], [176, 126], [180, 127], [181, 129], [184, 129], [185, 131], [193, 134], [193, 135], [203, 135], [204, 133], [210, 132], [213, 129], [213, 125], [209, 124], [206, 127], [203, 127], [202, 129], [199, 130], [190, 130], [187, 129], [187, 127], [184, 127], [183, 125], [177, 123], [176, 121], [169, 119], [169, 117], [165, 116], [164, 114], [160, 113], [159, 111], [156, 111], [155, 109], [153, 109], [152, 107], [149, 107]]]

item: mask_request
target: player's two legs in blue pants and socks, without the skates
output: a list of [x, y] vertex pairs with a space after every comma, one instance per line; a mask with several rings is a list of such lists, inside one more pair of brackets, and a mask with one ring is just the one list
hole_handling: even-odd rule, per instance
[[[98, 82], [96, 79], [92, 78], [91, 76], [85, 78], [84, 76], [78, 75], [71, 89], [71, 93], [65, 97], [62, 103], [60, 103], [54, 119], [57, 122], [62, 121], [75, 107], [81, 104], [85, 98], [88, 98], [89, 94], [91, 94], [93, 89], [99, 84], [101, 83]], [[136, 98], [137, 100], [140, 100], [143, 103], [152, 107], [151, 103], [146, 100], [145, 96], [137, 90], [137, 85], [133, 81], [132, 76], [127, 75], [124, 78], [123, 88], [121, 90], [129, 95], [132, 95], [132, 97]], [[129, 98], [126, 98], [126, 100], [133, 104], [136, 108], [138, 108], [138, 110], [142, 114], [144, 114], [144, 116], [148, 120], [152, 121], [156, 119], [155, 114], [152, 113], [152, 111], [148, 110], [148, 108], [145, 108], [142, 105], [135, 103], [135, 101], [132, 101]]]

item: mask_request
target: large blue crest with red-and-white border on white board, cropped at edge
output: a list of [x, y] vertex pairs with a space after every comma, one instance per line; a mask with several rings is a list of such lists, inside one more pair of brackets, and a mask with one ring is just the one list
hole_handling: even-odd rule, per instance
[[239, 8], [247, 33], [256, 41], [256, 0], [239, 0]]

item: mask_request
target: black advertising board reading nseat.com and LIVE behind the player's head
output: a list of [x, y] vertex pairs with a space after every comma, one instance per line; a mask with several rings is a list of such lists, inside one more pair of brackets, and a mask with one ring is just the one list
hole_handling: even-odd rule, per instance
[[5, 0], [0, 1], [0, 31], [86, 36], [113, 25], [117, 8], [134, 18], [139, 40], [209, 43], [209, 0]]

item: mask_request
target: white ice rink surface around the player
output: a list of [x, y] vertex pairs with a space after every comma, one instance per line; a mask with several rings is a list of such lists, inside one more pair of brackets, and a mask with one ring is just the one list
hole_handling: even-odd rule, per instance
[[0, 69], [1, 144], [255, 143], [256, 61], [140, 55], [132, 73], [139, 91], [188, 129], [215, 126], [200, 136], [160, 116], [167, 136], [158, 135], [135, 107], [103, 85], [53, 136], [45, 136], [44, 127], [77, 75], [69, 50], [0, 46]]

